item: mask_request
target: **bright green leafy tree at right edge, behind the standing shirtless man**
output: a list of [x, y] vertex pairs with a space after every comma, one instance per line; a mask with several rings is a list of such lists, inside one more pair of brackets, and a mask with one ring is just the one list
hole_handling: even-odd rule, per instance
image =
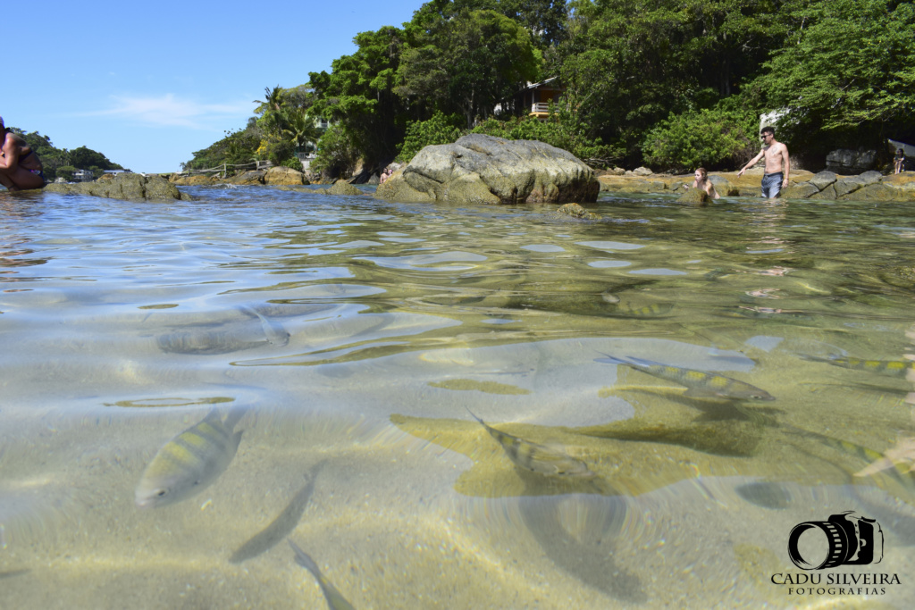
[[753, 85], [785, 111], [779, 138], [823, 153], [915, 137], [915, 7], [830, 0], [795, 9], [804, 27]]

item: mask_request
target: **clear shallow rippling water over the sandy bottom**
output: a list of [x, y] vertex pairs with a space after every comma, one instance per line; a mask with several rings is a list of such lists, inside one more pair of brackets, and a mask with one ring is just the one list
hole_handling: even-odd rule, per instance
[[[915, 485], [855, 474], [915, 435], [913, 380], [816, 360], [915, 353], [907, 204], [604, 198], [582, 223], [188, 192], [0, 193], [0, 605], [324, 607], [288, 535], [357, 608], [908, 607]], [[136, 508], [214, 407], [247, 410], [225, 472]], [[596, 479], [514, 466], [468, 409]], [[884, 557], [823, 580], [899, 585], [771, 583], [802, 573], [796, 524], [845, 510]]]

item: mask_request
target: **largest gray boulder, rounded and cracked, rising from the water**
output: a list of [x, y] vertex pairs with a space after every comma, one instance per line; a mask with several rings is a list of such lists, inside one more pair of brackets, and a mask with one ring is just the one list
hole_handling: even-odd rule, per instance
[[550, 144], [468, 134], [426, 146], [375, 191], [391, 201], [514, 204], [597, 200], [590, 167]]

